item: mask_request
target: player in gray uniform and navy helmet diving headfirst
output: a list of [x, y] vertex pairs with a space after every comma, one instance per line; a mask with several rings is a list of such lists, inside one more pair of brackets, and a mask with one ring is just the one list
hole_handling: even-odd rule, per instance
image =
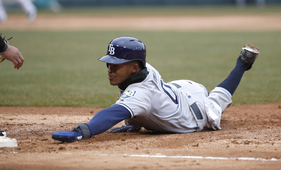
[[134, 37], [113, 39], [107, 55], [98, 60], [106, 63], [111, 85], [120, 89], [120, 98], [111, 107], [99, 111], [88, 123], [72, 131], [52, 134], [59, 141], [75, 141], [103, 133], [125, 120], [126, 126], [108, 132], [136, 132], [142, 127], [162, 133], [218, 130], [221, 115], [232, 103], [243, 73], [251, 69], [259, 49], [245, 45], [229, 76], [210, 93], [190, 80], [165, 83], [159, 72], [146, 63], [146, 48]]

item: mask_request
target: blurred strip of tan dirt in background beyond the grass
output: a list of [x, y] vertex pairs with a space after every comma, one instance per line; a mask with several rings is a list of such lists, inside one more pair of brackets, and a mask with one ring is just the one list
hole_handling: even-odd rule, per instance
[[281, 14], [219, 16], [91, 16], [42, 15], [28, 23], [24, 15], [9, 15], [7, 30], [236, 30], [280, 31]]

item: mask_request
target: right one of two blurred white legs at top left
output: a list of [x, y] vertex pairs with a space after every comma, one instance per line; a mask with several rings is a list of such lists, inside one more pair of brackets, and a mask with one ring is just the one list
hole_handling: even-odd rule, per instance
[[30, 0], [17, 0], [25, 13], [28, 15], [28, 21], [33, 22], [37, 15], [37, 8]]

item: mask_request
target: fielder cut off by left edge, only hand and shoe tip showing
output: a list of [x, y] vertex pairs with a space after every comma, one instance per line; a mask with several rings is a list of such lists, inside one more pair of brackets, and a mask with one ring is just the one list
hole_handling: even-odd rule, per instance
[[[1, 37], [0, 34], [0, 63], [5, 59], [11, 61], [14, 64], [14, 68], [19, 69], [23, 65], [23, 55], [18, 48], [8, 45], [8, 41]], [[0, 136], [6, 136], [6, 132], [0, 130]]]

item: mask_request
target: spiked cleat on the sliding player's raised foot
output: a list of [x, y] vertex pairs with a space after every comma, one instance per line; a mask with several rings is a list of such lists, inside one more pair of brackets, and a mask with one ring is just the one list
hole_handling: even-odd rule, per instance
[[238, 57], [242, 63], [246, 63], [249, 67], [246, 69], [250, 70], [252, 68], [253, 63], [255, 62], [256, 58], [258, 58], [259, 48], [253, 45], [246, 44]]

